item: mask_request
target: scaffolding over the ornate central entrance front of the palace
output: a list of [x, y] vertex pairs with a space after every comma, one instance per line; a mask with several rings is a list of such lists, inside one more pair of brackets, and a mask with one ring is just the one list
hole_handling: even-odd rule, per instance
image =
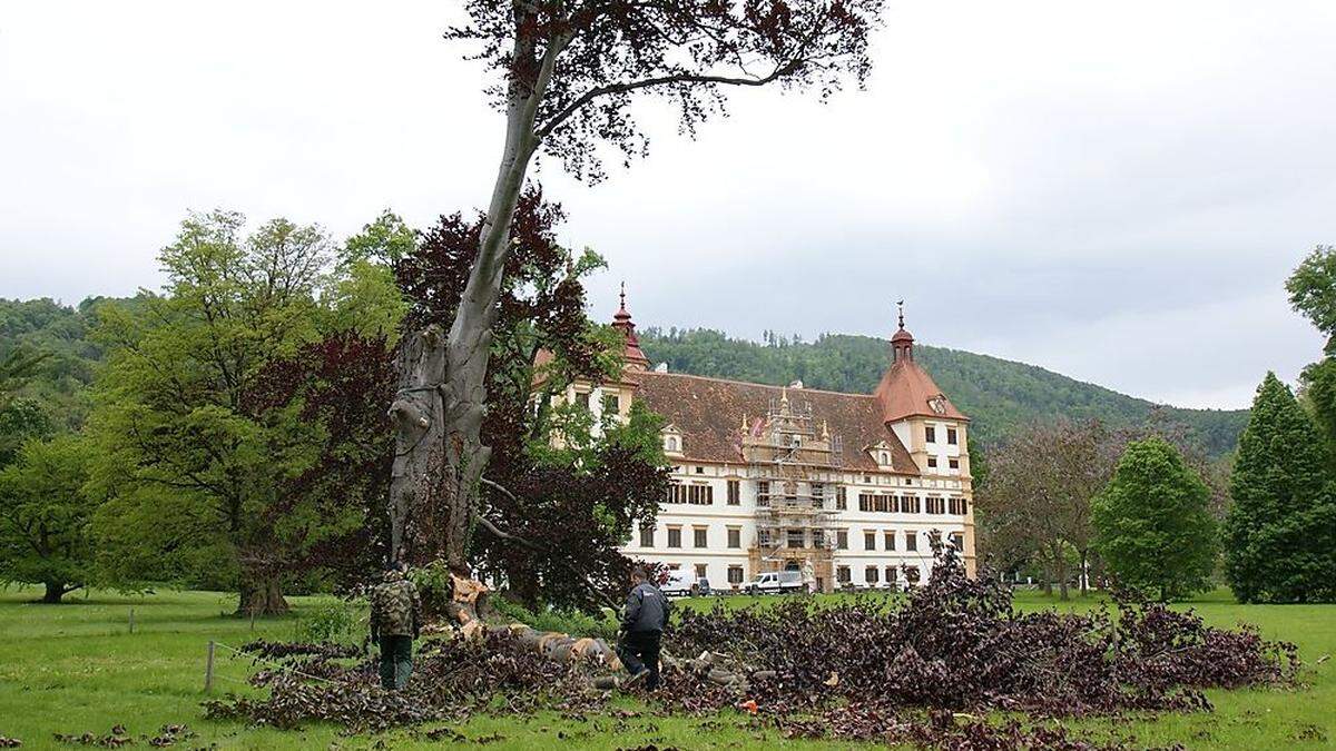
[[834, 587], [832, 520], [844, 448], [810, 402], [795, 404], [784, 389], [755, 424], [743, 416], [743, 457], [756, 481], [756, 544], [752, 575], [799, 571], [822, 591]]

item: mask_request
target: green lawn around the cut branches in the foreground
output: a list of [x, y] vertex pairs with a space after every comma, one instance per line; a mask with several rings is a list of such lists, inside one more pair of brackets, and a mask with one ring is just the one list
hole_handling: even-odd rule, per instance
[[[183, 748], [371, 748], [437, 747], [414, 731], [378, 736], [345, 736], [334, 727], [283, 732], [240, 723], [214, 723], [202, 716], [204, 655], [208, 640], [239, 647], [254, 637], [291, 639], [303, 615], [321, 599], [294, 597], [294, 616], [246, 620], [223, 615], [235, 596], [216, 592], [162, 591], [150, 596], [95, 592], [69, 596], [64, 605], [32, 604], [35, 589], [0, 592], [0, 736], [24, 748], [65, 747], [55, 734], [104, 735], [114, 724], [144, 739], [168, 723], [184, 723], [198, 735]], [[764, 599], [763, 599], [764, 600]], [[691, 601], [707, 607], [713, 600]], [[728, 597], [744, 605], [749, 597]], [[1022, 609], [1082, 609], [1096, 599], [1055, 603], [1022, 593]], [[1336, 661], [1317, 664], [1336, 652], [1336, 605], [1238, 605], [1228, 592], [1204, 596], [1194, 607], [1212, 625], [1256, 624], [1269, 639], [1299, 644], [1305, 663], [1304, 686], [1296, 691], [1256, 690], [1210, 694], [1210, 714], [1161, 715], [1134, 722], [1071, 723], [1096, 735], [1134, 736], [1145, 746], [1184, 743], [1189, 748], [1331, 748], [1336, 746]], [[130, 609], [135, 632], [130, 633]], [[671, 645], [669, 645], [671, 647]], [[248, 692], [242, 683], [247, 659], [219, 649], [215, 694]], [[625, 708], [637, 710], [631, 700]], [[584, 748], [633, 748], [644, 744], [680, 748], [784, 747], [834, 748], [847, 744], [795, 742], [772, 730], [755, 728], [741, 715], [716, 720], [643, 716], [588, 722], [540, 714], [529, 719], [474, 718], [457, 730], [488, 739], [489, 748], [537, 748], [578, 744]], [[146, 747], [146, 746], [140, 746]]]

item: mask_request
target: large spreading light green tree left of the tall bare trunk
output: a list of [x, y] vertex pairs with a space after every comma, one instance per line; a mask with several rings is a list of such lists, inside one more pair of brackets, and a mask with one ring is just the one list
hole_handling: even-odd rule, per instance
[[[275, 219], [243, 239], [243, 223], [190, 216], [159, 257], [163, 294], [102, 310], [94, 485], [115, 496], [98, 527], [116, 579], [232, 583], [238, 612], [263, 615], [287, 609], [283, 580], [302, 551], [347, 537], [366, 516], [359, 493], [322, 492], [309, 470], [330, 452], [387, 452], [355, 430], [330, 445], [337, 416], [311, 409], [315, 390], [299, 384], [337, 386], [338, 370], [283, 363], [337, 362], [346, 346], [321, 343], [341, 322], [393, 327], [398, 298], [341, 287], [349, 277], [330, 274], [319, 227]], [[378, 351], [367, 359], [387, 362], [383, 339]], [[339, 498], [353, 508], [330, 502]]]

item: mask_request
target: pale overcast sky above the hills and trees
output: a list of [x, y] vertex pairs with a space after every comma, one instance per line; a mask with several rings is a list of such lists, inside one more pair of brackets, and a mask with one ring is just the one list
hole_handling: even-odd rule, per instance
[[[457, 3], [0, 4], [0, 297], [160, 283], [187, 210], [411, 224], [482, 206], [500, 116]], [[589, 187], [540, 164], [641, 326], [887, 335], [1182, 406], [1321, 338], [1284, 279], [1336, 242], [1336, 3], [887, 1], [868, 90], [732, 96]]]

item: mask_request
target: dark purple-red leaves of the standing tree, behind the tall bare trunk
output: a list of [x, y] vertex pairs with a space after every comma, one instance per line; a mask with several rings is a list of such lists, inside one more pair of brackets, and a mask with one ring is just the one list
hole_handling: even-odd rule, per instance
[[[556, 224], [565, 219], [538, 187], [524, 191], [510, 224], [512, 253], [505, 289], [493, 325], [488, 366], [488, 412], [482, 442], [492, 448], [489, 480], [514, 497], [482, 489], [484, 514], [505, 532], [540, 544], [538, 549], [501, 540], [478, 528], [470, 561], [482, 573], [505, 581], [529, 604], [596, 607], [581, 573], [605, 595], [624, 589], [631, 561], [617, 552], [645, 509], [657, 508], [664, 474], [629, 450], [609, 448], [593, 473], [580, 468], [538, 466], [525, 444], [542, 436], [548, 413], [534, 412], [546, 394], [534, 396], [533, 362], [540, 349], [554, 355], [542, 389], [564, 388], [574, 377], [597, 378], [600, 354], [587, 337], [585, 291], [578, 263], [557, 243]], [[430, 322], [449, 327], [477, 257], [485, 216], [441, 216], [422, 234], [418, 249], [395, 269], [410, 301], [407, 327]], [[613, 524], [595, 524], [596, 513]], [[652, 514], [652, 510], [648, 512]]]

